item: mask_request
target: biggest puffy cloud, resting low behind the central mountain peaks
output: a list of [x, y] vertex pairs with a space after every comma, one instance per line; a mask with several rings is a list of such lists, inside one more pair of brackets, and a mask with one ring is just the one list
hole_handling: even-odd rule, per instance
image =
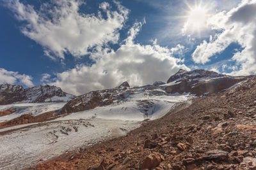
[[[131, 86], [166, 81], [180, 68], [189, 70], [182, 60], [172, 57], [176, 48], [134, 43], [136, 34], [143, 23], [137, 22], [129, 31], [129, 36], [118, 50], [102, 49], [92, 53], [96, 59], [92, 66], [78, 65], [57, 74], [53, 84], [71, 94], [84, 94], [92, 90], [108, 89], [129, 81]], [[76, 82], [76, 83], [74, 83]]]

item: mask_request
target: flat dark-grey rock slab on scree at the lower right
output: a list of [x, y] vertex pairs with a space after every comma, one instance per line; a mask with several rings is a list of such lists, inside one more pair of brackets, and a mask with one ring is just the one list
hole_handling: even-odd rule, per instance
[[206, 152], [203, 155], [203, 159], [205, 160], [225, 160], [228, 157], [228, 152], [225, 152], [223, 150], [210, 150], [209, 152]]

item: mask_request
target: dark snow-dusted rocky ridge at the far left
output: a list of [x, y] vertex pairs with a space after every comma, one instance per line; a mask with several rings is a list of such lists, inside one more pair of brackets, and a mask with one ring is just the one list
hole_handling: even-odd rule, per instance
[[38, 85], [24, 89], [21, 85], [0, 85], [0, 105], [12, 103], [67, 102], [75, 96], [63, 92], [60, 87]]

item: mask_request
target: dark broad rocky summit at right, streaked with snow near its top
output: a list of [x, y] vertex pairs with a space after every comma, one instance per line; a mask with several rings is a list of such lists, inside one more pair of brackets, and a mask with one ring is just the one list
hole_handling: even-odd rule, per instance
[[168, 79], [165, 90], [170, 94], [190, 93], [204, 96], [205, 94], [221, 92], [221, 90], [228, 89], [232, 85], [246, 80], [246, 78], [248, 76], [232, 77], [204, 69], [193, 71], [180, 69]]

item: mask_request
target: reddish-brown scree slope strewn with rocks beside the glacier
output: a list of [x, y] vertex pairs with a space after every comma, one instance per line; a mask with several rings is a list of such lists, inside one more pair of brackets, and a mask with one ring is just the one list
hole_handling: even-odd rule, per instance
[[256, 169], [256, 76], [30, 169]]

